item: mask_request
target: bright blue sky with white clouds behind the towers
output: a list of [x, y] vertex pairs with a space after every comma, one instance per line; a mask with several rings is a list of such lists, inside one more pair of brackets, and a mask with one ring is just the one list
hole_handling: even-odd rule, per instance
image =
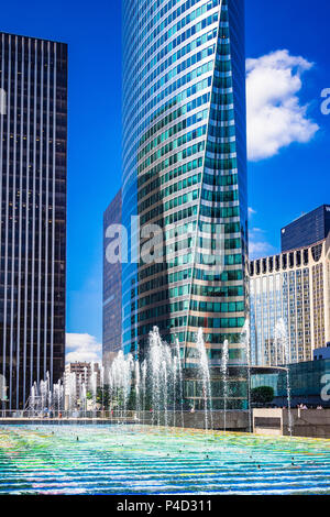
[[[121, 175], [120, 0], [2, 3], [1, 31], [69, 44], [67, 331], [84, 334], [85, 350], [97, 356], [102, 212]], [[249, 124], [258, 128], [258, 138], [250, 144], [254, 160], [249, 162], [256, 255], [279, 249], [282, 226], [330, 202], [330, 116], [320, 111], [321, 90], [330, 88], [330, 2], [245, 3], [246, 57], [256, 59], [249, 67]], [[253, 102], [256, 97], [251, 96], [264, 78], [270, 81], [268, 97]], [[265, 117], [271, 122], [263, 124]], [[289, 138], [282, 131], [285, 123], [293, 128]], [[75, 353], [78, 346], [74, 336], [68, 350]]]

